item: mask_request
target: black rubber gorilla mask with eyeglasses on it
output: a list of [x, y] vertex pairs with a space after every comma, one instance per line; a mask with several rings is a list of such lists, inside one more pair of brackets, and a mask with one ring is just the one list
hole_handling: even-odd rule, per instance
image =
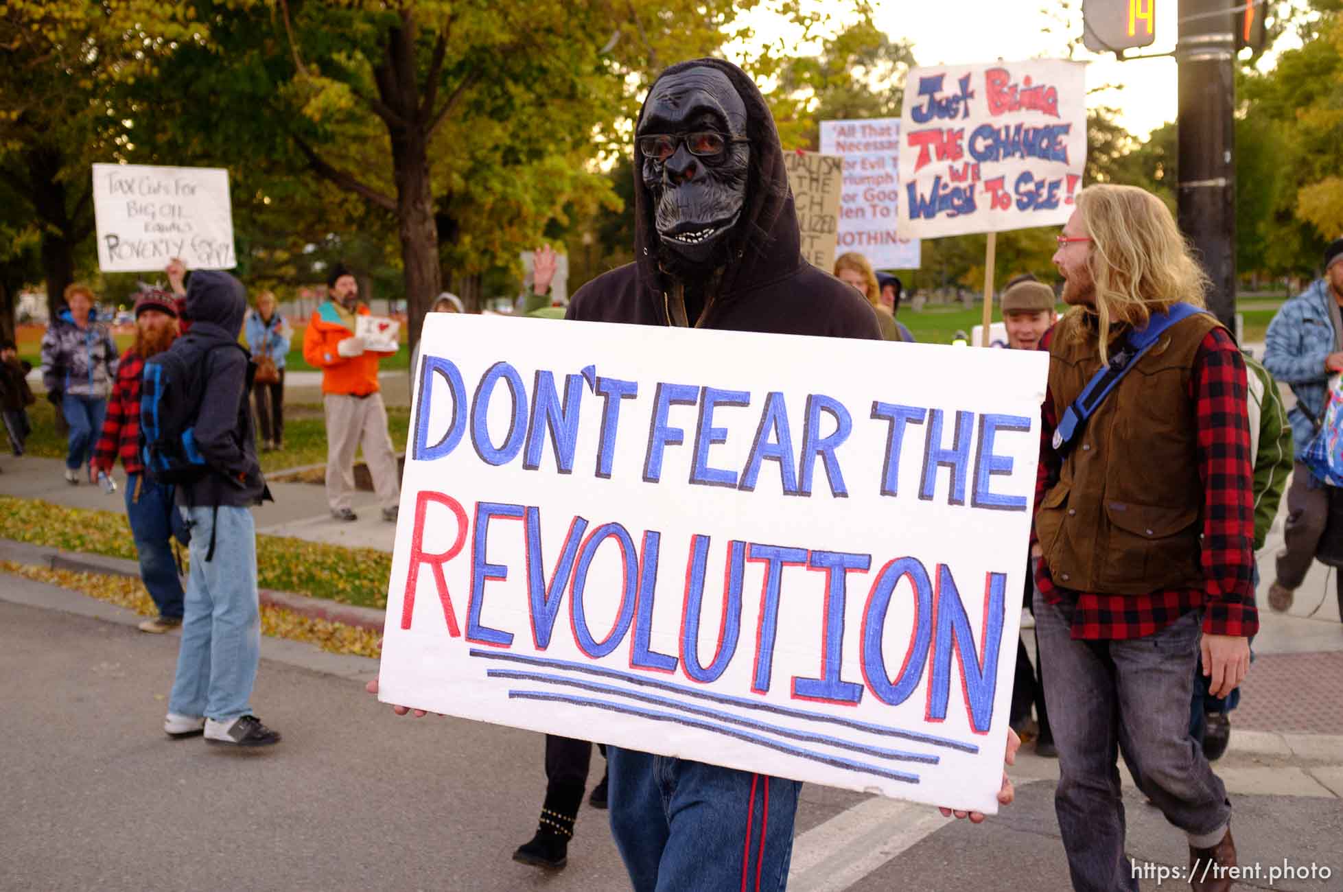
[[659, 79], [635, 137], [653, 224], [673, 269], [708, 271], [727, 259], [747, 196], [747, 106], [728, 75], [700, 66]]

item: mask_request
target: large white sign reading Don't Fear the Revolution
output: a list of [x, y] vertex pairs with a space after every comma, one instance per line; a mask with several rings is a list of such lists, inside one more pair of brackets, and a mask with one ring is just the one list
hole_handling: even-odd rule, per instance
[[1045, 355], [446, 313], [420, 345], [384, 701], [997, 809]]

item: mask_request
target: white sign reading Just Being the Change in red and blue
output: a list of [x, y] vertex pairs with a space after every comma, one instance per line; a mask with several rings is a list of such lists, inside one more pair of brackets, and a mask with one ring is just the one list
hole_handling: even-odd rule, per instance
[[1061, 226], [1086, 165], [1080, 62], [913, 69], [900, 137], [900, 231], [920, 238]]

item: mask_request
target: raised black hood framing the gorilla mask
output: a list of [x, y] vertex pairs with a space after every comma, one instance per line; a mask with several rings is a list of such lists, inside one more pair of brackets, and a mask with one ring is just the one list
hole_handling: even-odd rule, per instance
[[[684, 75], [697, 67], [714, 69], [727, 75], [741, 103], [745, 106], [744, 136], [749, 140], [749, 167], [745, 200], [732, 231], [727, 234], [724, 274], [719, 294], [728, 298], [733, 292], [753, 287], [782, 278], [802, 263], [798, 216], [788, 189], [788, 173], [783, 164], [783, 146], [774, 117], [764, 97], [745, 71], [723, 59], [690, 59], [666, 69], [649, 90], [649, 98], [658, 93], [658, 83], [672, 75]], [[649, 114], [649, 99], [639, 112], [639, 125]], [[729, 122], [731, 124], [731, 122]], [[735, 129], [735, 128], [733, 128]], [[635, 133], [639, 133], [637, 125]], [[728, 134], [733, 136], [733, 134]], [[729, 146], [731, 150], [731, 146]], [[646, 157], [634, 145], [634, 250], [639, 269], [639, 282], [655, 297], [669, 286], [669, 273], [659, 257], [666, 251], [655, 227], [657, 199], [645, 183]]]

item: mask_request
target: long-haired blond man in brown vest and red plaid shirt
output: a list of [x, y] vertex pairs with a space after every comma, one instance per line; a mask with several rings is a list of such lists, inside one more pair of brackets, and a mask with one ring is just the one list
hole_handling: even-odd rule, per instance
[[[1050, 351], [1035, 500], [1035, 629], [1060, 755], [1054, 797], [1077, 889], [1138, 889], [1116, 756], [1189, 837], [1194, 889], [1228, 889], [1230, 805], [1189, 735], [1195, 665], [1225, 696], [1258, 630], [1245, 364], [1207, 313], [1131, 359], [1128, 334], [1207, 279], [1170, 211], [1133, 187], [1077, 196], [1054, 265], [1073, 306]], [[1178, 312], [1171, 318], [1176, 318]], [[1058, 420], [1111, 360], [1119, 384], [1068, 437]], [[1056, 435], [1058, 434], [1058, 435]]]

